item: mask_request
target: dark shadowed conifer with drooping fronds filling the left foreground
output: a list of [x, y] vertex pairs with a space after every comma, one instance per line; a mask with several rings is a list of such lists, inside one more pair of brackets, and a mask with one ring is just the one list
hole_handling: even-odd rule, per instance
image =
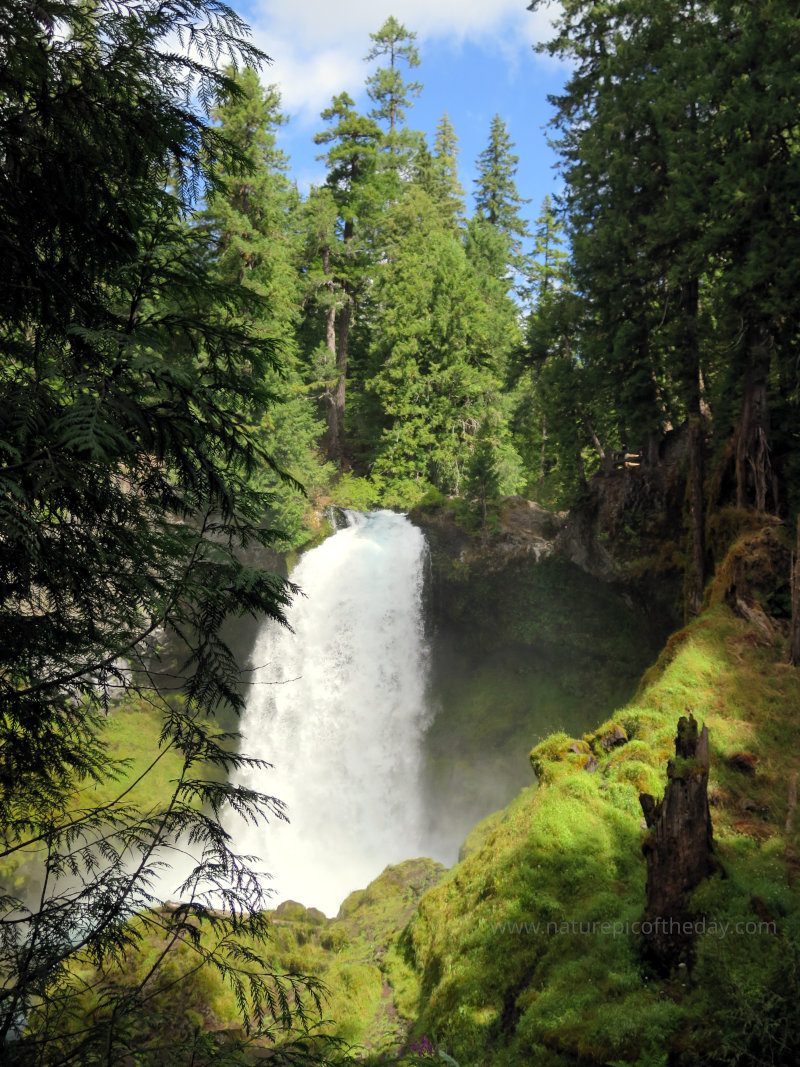
[[[176, 945], [224, 974], [254, 1033], [302, 1023], [301, 993], [316, 996], [256, 951], [265, 892], [221, 814], [283, 811], [228, 784], [254, 761], [213, 719], [242, 703], [226, 615], [283, 620], [292, 592], [239, 560], [270, 540], [251, 476], [271, 463], [258, 426], [275, 343], [250, 325], [261, 298], [214, 281], [208, 236], [188, 225], [217, 170], [244, 165], [206, 116], [240, 92], [225, 65], [263, 59], [246, 34], [218, 0], [0, 11], [3, 1063], [122, 1063], [134, 1048], [161, 1062], [129, 1021]], [[185, 654], [166, 702], [155, 649], [170, 633]], [[134, 806], [126, 784], [83, 799], [124, 773], [102, 739], [114, 688], [161, 708], [153, 766], [180, 768], [163, 806]], [[191, 903], [131, 924], [187, 843]], [[113, 975], [154, 933], [160, 954], [123, 989]]]

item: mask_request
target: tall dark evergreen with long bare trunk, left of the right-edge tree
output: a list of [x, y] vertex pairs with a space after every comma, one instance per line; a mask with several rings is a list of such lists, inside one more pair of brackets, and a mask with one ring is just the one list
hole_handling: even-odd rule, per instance
[[708, 173], [698, 106], [706, 33], [691, 5], [647, 9], [639, 0], [571, 3], [558, 30], [549, 47], [576, 59], [556, 124], [573, 269], [586, 299], [580, 355], [611, 386], [610, 447], [654, 462], [666, 427], [689, 418], [697, 609], [705, 569], [698, 292], [708, 261], [691, 197]]

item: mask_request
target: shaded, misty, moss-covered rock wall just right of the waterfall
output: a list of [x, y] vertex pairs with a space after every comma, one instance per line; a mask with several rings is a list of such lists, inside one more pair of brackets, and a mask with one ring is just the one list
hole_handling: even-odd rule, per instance
[[532, 745], [554, 731], [581, 738], [656, 655], [641, 619], [572, 564], [455, 566], [461, 543], [450, 526], [432, 537], [436, 715], [425, 749], [426, 805], [457, 840], [530, 781]]

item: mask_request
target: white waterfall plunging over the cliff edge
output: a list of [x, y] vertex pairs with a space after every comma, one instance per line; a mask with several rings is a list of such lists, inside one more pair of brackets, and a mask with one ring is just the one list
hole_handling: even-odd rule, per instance
[[426, 542], [404, 515], [347, 515], [291, 574], [304, 594], [293, 633], [265, 624], [253, 654], [242, 749], [273, 769], [242, 783], [279, 797], [290, 822], [236, 830], [275, 903], [329, 915], [387, 863], [425, 853]]

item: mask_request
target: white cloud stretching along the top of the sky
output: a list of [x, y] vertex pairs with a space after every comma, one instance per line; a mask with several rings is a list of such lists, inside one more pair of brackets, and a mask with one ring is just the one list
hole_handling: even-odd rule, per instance
[[476, 41], [511, 64], [549, 36], [556, 7], [535, 14], [525, 0], [251, 0], [245, 12], [256, 44], [274, 60], [265, 74], [281, 85], [285, 109], [301, 123], [316, 120], [334, 93], [356, 96], [364, 85], [369, 34], [394, 15], [425, 42]]

